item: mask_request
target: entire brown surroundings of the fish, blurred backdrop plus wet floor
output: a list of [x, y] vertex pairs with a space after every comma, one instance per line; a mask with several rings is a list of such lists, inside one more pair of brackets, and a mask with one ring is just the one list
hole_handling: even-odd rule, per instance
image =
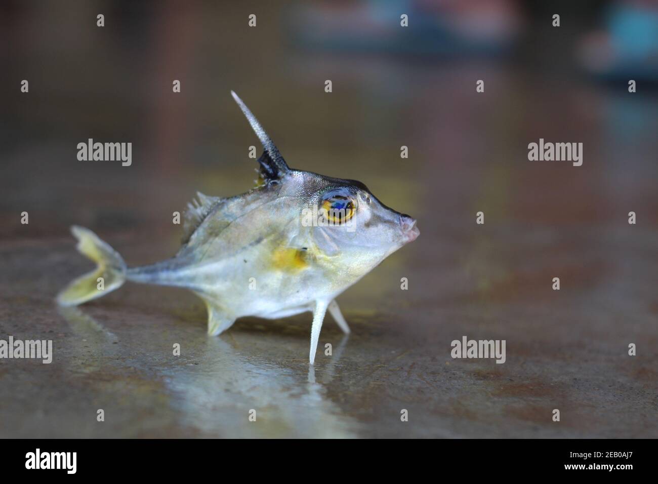
[[[56, 349], [0, 360], [0, 436], [656, 436], [655, 2], [3, 1], [0, 45], [0, 337]], [[143, 265], [176, 252], [197, 190], [253, 186], [230, 90], [291, 167], [418, 219], [339, 298], [353, 335], [315, 369], [310, 315], [209, 341], [184, 291], [53, 304], [89, 268], [70, 225]], [[88, 138], [132, 142], [132, 166], [78, 161]], [[539, 138], [582, 142], [582, 166], [528, 161]], [[463, 335], [507, 340], [507, 363], [451, 360]], [[341, 337], [328, 320], [320, 346]]]

